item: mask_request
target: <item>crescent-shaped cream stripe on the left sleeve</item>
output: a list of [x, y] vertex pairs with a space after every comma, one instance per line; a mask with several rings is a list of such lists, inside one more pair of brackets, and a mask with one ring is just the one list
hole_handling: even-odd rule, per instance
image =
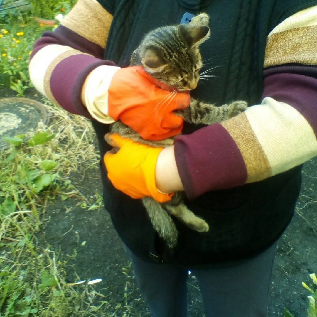
[[29, 64], [30, 79], [34, 87], [41, 94], [46, 95], [44, 89], [44, 78], [50, 63], [58, 55], [71, 50], [73, 50], [73, 48], [69, 46], [51, 44], [44, 46], [33, 56]]

